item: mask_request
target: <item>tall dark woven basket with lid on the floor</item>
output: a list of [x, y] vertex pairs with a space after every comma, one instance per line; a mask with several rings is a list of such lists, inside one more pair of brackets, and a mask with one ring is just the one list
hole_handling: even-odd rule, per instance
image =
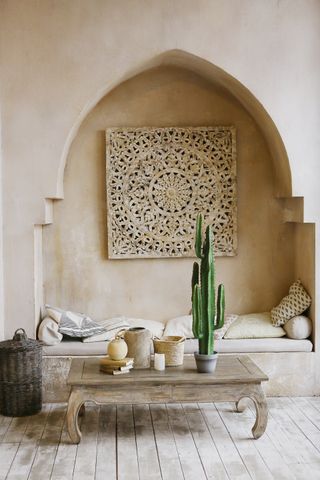
[[41, 407], [42, 346], [19, 328], [12, 340], [0, 342], [0, 413], [24, 417]]

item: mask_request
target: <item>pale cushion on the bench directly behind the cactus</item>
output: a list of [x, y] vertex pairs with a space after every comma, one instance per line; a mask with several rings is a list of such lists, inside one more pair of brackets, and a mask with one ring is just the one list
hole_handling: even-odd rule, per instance
[[[214, 331], [215, 340], [221, 340], [224, 337], [224, 334], [232, 325], [232, 323], [238, 318], [238, 315], [227, 314], [225, 315], [224, 325], [222, 328]], [[164, 335], [167, 337], [181, 336], [186, 338], [194, 338], [192, 331], [192, 315], [183, 315], [181, 317], [171, 318], [166, 324]]]

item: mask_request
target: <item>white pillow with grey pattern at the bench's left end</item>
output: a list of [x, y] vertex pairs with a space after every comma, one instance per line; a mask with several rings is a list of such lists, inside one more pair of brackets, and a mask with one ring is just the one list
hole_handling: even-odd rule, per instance
[[61, 308], [51, 307], [50, 305], [46, 305], [46, 310], [49, 317], [59, 324], [58, 331], [63, 335], [83, 338], [105, 332], [103, 326], [82, 313], [62, 310]]

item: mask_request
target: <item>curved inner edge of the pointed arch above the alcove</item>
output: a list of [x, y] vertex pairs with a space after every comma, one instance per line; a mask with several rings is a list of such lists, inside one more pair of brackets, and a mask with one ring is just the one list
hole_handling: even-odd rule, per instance
[[64, 170], [67, 157], [69, 155], [71, 144], [86, 116], [94, 109], [102, 98], [121, 83], [150, 69], [165, 66], [174, 66], [190, 70], [201, 76], [203, 79], [207, 79], [209, 82], [213, 82], [216, 86], [225, 89], [239, 101], [243, 108], [246, 109], [255, 119], [257, 125], [263, 132], [270, 150], [275, 178], [275, 195], [277, 197], [290, 197], [292, 194], [291, 172], [286, 149], [276, 125], [263, 105], [241, 82], [223, 69], [219, 68], [217, 65], [186, 51], [174, 49], [166, 51], [161, 55], [146, 61], [142, 65], [138, 65], [136, 69], [128, 71], [125, 75], [117, 78], [114, 82], [104, 85], [97, 94], [87, 102], [74, 122], [63, 146], [57, 175], [55, 198], [63, 198]]

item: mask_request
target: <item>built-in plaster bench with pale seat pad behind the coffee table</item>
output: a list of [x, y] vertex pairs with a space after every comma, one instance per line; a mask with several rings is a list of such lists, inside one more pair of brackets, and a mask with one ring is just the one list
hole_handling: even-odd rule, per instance
[[[66, 379], [71, 359], [76, 356], [105, 355], [108, 342], [83, 343], [62, 341], [43, 347], [44, 401], [65, 402], [69, 396]], [[289, 338], [256, 338], [216, 340], [215, 349], [221, 354], [250, 354], [253, 361], [269, 376], [267, 395], [314, 395], [314, 362], [310, 340]], [[185, 342], [185, 354], [198, 350], [198, 340]]]

